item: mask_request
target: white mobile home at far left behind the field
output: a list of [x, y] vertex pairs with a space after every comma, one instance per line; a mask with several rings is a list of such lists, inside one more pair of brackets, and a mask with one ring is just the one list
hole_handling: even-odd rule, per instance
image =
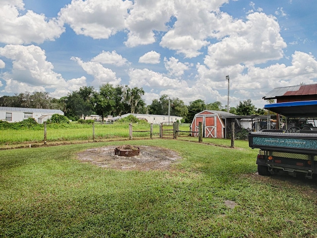
[[0, 107], [0, 120], [9, 122], [18, 122], [24, 119], [34, 118], [41, 124], [50, 119], [53, 114], [64, 115], [62, 111], [55, 109]]

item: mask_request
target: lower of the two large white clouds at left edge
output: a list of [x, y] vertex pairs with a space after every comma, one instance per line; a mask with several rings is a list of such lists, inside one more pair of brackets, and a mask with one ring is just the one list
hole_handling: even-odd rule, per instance
[[38, 46], [6, 45], [0, 48], [0, 56], [12, 60], [12, 71], [3, 73], [7, 85], [17, 83], [26, 88], [25, 85], [29, 85], [31, 89], [39, 87], [40, 91], [44, 87], [65, 86], [65, 80], [53, 71], [53, 64], [46, 60], [45, 52]]

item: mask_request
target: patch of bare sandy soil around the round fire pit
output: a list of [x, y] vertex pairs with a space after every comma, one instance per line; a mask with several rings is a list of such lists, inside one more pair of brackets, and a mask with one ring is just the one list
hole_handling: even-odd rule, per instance
[[172, 163], [181, 157], [172, 150], [154, 147], [138, 146], [140, 154], [132, 157], [124, 157], [114, 154], [117, 146], [98, 147], [85, 150], [78, 154], [81, 162], [90, 162], [100, 167], [116, 170], [169, 170]]

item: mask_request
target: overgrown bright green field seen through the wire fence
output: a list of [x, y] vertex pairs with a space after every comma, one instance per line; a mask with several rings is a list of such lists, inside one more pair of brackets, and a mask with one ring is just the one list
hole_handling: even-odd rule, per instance
[[[50, 143], [62, 141], [102, 141], [105, 139], [129, 139], [131, 137], [129, 123], [113, 124], [48, 124], [46, 127], [0, 130], [0, 146], [18, 143]], [[188, 124], [181, 128], [188, 130]], [[159, 138], [160, 125], [149, 123], [133, 123], [133, 138]]]

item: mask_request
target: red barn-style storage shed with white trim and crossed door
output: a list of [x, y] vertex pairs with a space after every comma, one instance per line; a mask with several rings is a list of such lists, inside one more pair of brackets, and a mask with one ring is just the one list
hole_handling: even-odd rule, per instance
[[[198, 136], [199, 122], [202, 122], [203, 137], [205, 138], [224, 138], [224, 119], [225, 117], [236, 116], [232, 113], [223, 111], [205, 110], [195, 115], [190, 126], [192, 136]], [[196, 132], [197, 131], [197, 132]]]

